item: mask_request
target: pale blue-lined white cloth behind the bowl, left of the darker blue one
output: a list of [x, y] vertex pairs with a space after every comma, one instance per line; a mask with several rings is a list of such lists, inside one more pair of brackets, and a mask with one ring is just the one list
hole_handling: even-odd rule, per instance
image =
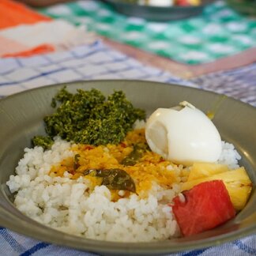
[[193, 83], [163, 70], [144, 66], [100, 40], [30, 58], [0, 58], [0, 96], [28, 88], [91, 79], [143, 79], [179, 85]]

